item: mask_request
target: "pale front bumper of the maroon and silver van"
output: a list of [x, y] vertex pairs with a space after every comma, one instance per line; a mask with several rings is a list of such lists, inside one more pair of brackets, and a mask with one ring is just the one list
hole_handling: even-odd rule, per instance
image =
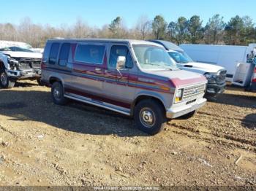
[[176, 109], [167, 109], [166, 117], [168, 119], [174, 119], [177, 117], [181, 117], [184, 114], [188, 114], [190, 112], [193, 112], [200, 107], [204, 106], [206, 104], [206, 98], [200, 98], [195, 103], [184, 105], [181, 107], [178, 107]]

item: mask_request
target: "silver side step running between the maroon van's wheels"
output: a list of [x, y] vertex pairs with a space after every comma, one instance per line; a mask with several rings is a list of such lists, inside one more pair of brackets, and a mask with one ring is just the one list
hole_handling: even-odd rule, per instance
[[121, 107], [121, 106], [115, 106], [113, 104], [108, 104], [108, 103], [105, 103], [105, 102], [102, 102], [102, 101], [92, 100], [91, 98], [76, 95], [74, 93], [65, 93], [64, 97], [69, 98], [69, 99], [73, 99], [75, 101], [81, 101], [81, 102], [86, 103], [86, 104], [99, 106], [99, 107], [102, 107], [104, 109], [109, 109], [113, 112], [118, 112], [120, 114], [125, 114], [125, 115], [128, 115], [128, 116], [131, 115], [130, 114], [130, 109], [126, 109], [126, 108]]

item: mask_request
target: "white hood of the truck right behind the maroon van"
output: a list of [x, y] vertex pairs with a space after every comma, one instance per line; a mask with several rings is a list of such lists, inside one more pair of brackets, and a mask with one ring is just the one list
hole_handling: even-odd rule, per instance
[[209, 63], [191, 62], [191, 63], [179, 63], [177, 65], [181, 66], [181, 68], [184, 70], [194, 71], [200, 74], [205, 74], [206, 72], [217, 73], [220, 70], [224, 70], [224, 68], [221, 66], [217, 66]]

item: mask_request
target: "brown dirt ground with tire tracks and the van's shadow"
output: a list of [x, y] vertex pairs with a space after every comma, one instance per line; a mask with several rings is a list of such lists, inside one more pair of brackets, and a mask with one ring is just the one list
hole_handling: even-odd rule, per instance
[[129, 117], [57, 106], [50, 88], [20, 82], [0, 90], [0, 185], [256, 186], [256, 93], [228, 87], [147, 136]]

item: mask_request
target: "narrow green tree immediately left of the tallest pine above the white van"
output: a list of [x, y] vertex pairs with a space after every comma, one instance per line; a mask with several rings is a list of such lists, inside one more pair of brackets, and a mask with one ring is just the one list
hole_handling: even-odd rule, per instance
[[188, 30], [192, 44], [197, 44], [203, 38], [202, 23], [203, 21], [197, 15], [192, 16], [189, 20]]

